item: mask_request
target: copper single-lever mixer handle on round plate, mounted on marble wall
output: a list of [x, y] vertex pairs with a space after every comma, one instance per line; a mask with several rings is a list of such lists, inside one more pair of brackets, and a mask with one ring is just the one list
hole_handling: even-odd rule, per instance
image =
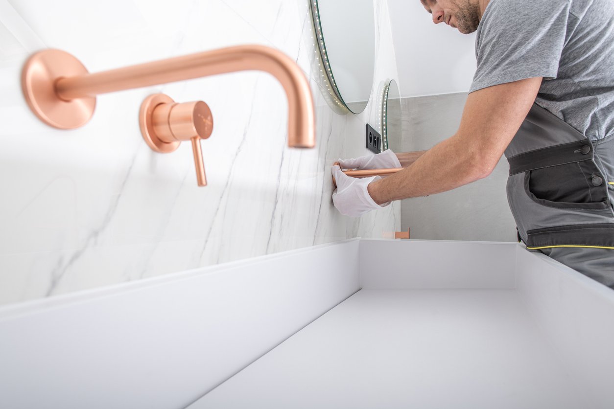
[[143, 139], [156, 152], [172, 152], [181, 142], [190, 140], [198, 186], [207, 185], [200, 140], [213, 131], [209, 105], [203, 101], [177, 104], [168, 95], [153, 94], [141, 104], [139, 124]]

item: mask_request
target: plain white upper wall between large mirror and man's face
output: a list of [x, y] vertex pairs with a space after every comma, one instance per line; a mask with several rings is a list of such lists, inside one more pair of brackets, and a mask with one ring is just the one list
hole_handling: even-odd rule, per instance
[[388, 0], [402, 97], [468, 91], [475, 33], [433, 24], [420, 0]]

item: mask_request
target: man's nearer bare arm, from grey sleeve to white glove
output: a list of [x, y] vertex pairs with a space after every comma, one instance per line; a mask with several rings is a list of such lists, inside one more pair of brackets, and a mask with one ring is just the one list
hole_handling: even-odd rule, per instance
[[491, 174], [529, 113], [542, 78], [495, 85], [469, 94], [461, 126], [413, 164], [371, 183], [377, 204], [441, 193]]

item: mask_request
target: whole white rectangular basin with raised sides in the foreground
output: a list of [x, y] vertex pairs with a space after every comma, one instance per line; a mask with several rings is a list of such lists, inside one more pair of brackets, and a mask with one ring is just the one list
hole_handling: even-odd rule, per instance
[[614, 291], [517, 243], [347, 240], [0, 308], [0, 408], [612, 409]]

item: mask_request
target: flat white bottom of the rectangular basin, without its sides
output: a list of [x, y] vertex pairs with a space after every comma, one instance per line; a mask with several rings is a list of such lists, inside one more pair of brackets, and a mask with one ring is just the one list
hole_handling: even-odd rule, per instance
[[190, 406], [586, 408], [515, 290], [362, 289]]

